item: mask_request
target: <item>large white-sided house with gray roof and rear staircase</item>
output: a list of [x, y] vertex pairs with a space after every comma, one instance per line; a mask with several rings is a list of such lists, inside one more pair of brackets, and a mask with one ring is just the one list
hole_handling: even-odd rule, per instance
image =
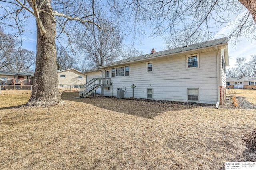
[[104, 96], [222, 104], [226, 96], [228, 39], [221, 38], [120, 60], [84, 72], [86, 97], [97, 88]]

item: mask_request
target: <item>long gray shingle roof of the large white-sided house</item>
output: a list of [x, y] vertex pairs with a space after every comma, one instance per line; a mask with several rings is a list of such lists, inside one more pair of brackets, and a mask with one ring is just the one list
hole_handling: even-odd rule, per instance
[[[175, 49], [159, 51], [159, 52], [156, 52], [154, 54], [150, 53], [150, 54], [146, 54], [146, 55], [140, 55], [138, 57], [132, 57], [130, 59], [119, 60], [119, 61], [116, 61], [114, 63], [110, 63], [110, 64], [107, 64], [105, 66], [101, 66], [101, 67], [98, 67], [98, 68], [104, 68], [104, 67], [108, 67], [108, 66], [112, 66], [112, 65], [116, 65], [116, 64], [122, 64], [122, 63], [129, 63], [129, 62], [136, 61], [136, 60], [141, 60], [141, 59], [149, 59], [149, 58], [159, 57], [159, 56], [162, 56], [162, 55], [180, 53], [180, 52], [184, 52], [184, 51], [195, 50], [195, 49], [200, 49], [200, 48], [204, 48], [204, 47], [210, 47], [210, 46], [214, 46], [214, 45], [224, 44], [224, 43], [226, 43], [226, 44], [228, 43], [228, 38], [227, 37], [220, 38], [220, 39], [214, 39], [214, 40], [206, 41], [206, 42], [202, 42], [202, 43], [196, 43], [196, 44], [188, 45], [188, 46], [185, 46], [185, 47], [178, 47], [178, 48], [175, 48]], [[98, 68], [87, 70], [87, 71], [85, 71], [85, 73], [96, 71], [96, 70], [98, 70]]]

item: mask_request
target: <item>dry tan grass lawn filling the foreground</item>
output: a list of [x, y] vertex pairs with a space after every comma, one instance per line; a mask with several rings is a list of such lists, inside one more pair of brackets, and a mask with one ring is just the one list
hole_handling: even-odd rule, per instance
[[20, 108], [30, 94], [1, 95], [0, 169], [218, 170], [256, 161], [244, 142], [256, 109], [77, 96]]

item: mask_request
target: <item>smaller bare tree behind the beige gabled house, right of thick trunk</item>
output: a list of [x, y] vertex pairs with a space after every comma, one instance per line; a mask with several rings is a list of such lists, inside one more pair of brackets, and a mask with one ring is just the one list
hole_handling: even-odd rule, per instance
[[76, 58], [72, 57], [62, 46], [57, 46], [57, 69], [67, 70], [69, 68], [77, 68]]

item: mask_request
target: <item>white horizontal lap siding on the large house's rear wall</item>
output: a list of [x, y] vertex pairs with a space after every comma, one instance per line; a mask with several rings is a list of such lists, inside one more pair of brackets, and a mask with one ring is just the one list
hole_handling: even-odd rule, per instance
[[[125, 97], [132, 97], [131, 85], [135, 84], [134, 97], [147, 98], [147, 88], [153, 88], [153, 99], [187, 100], [186, 88], [200, 88], [200, 102], [217, 102], [216, 52], [199, 54], [200, 67], [186, 69], [186, 56], [152, 60], [153, 72], [146, 72], [146, 61], [130, 64], [130, 76], [111, 78], [110, 90], [104, 88], [105, 96], [116, 96], [116, 90], [126, 87]], [[87, 81], [102, 77], [101, 72], [87, 74]]]

